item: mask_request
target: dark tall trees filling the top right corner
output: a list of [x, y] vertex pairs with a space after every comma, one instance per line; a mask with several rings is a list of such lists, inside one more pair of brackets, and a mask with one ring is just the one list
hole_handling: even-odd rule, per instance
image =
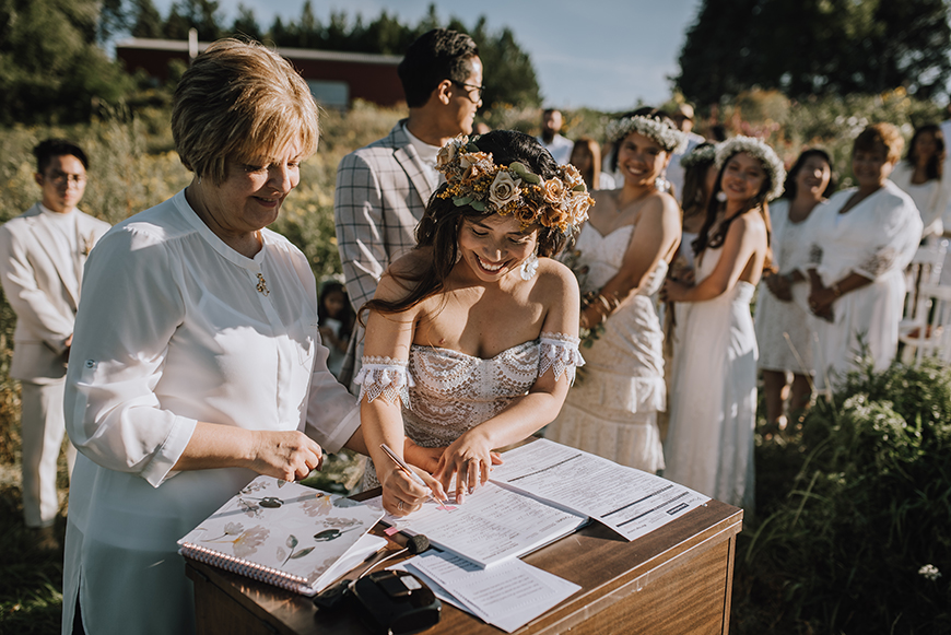
[[949, 0], [704, 0], [677, 86], [714, 103], [752, 86], [791, 97], [947, 93]]

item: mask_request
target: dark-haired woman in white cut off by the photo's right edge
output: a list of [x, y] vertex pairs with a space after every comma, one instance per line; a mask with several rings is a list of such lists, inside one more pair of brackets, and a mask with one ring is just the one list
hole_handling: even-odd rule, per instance
[[908, 143], [908, 155], [900, 161], [889, 180], [915, 201], [925, 230], [925, 238], [937, 240], [944, 233], [941, 216], [951, 199], [951, 178], [944, 178], [944, 133], [941, 127], [928, 124], [915, 128]]

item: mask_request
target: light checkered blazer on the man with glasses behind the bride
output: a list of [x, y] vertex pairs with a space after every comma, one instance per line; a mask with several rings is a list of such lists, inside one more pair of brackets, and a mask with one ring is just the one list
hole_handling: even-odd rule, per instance
[[[433, 193], [404, 124], [406, 119], [387, 137], [351, 152], [337, 167], [337, 248], [354, 310], [373, 298], [387, 267], [416, 245], [416, 224]], [[345, 386], [360, 368], [363, 334], [357, 326], [340, 374]]]

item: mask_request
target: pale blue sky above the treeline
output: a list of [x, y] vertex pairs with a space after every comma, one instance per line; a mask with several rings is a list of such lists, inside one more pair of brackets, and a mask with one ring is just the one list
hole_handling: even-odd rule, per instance
[[[173, 0], [154, 0], [167, 15]], [[251, 9], [262, 26], [275, 15], [296, 20], [304, 0], [219, 0], [225, 23], [238, 3]], [[364, 19], [386, 9], [403, 23], [415, 24], [431, 0], [312, 0], [317, 17], [332, 10]], [[508, 26], [530, 56], [545, 105], [590, 106], [623, 110], [638, 99], [658, 104], [670, 96], [669, 75], [677, 74], [677, 57], [686, 28], [696, 19], [700, 0], [442, 0], [441, 19], [459, 17], [474, 25], [485, 15], [491, 32]], [[492, 72], [492, 69], [485, 69]]]

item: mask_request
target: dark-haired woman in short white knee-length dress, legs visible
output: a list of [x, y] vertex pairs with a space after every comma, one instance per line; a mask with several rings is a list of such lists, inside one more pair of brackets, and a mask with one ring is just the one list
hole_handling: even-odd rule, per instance
[[[776, 273], [765, 275], [760, 283], [755, 320], [766, 433], [786, 427], [784, 403], [787, 397], [790, 413], [805, 410], [812, 397], [814, 331], [808, 313], [808, 279], [803, 274], [809, 262], [807, 221], [834, 190], [829, 154], [812, 148], [803, 151], [792, 164], [783, 197], [770, 205]], [[791, 386], [786, 383], [787, 373], [792, 374]]]

